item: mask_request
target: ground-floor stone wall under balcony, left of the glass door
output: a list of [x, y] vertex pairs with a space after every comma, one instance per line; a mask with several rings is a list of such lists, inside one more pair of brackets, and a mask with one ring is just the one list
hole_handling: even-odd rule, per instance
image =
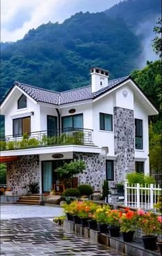
[[18, 195], [27, 193], [30, 182], [39, 184], [39, 156], [21, 156], [7, 165], [7, 185]]

